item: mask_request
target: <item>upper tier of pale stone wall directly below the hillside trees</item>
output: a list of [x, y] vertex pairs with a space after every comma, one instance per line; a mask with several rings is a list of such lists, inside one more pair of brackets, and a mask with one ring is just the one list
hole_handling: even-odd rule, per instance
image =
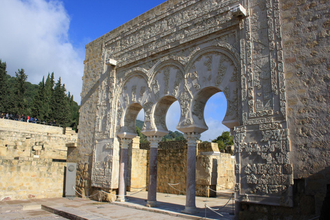
[[67, 144], [77, 142], [71, 128], [0, 119], [0, 158], [66, 159]]

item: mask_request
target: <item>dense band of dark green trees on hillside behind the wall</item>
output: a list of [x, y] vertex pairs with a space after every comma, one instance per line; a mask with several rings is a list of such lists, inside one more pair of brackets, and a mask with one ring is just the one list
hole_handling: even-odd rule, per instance
[[7, 74], [6, 67], [0, 59], [0, 113], [30, 116], [39, 122], [77, 129], [79, 105], [70, 92], [66, 93], [61, 77], [55, 83], [53, 72], [34, 85], [28, 82], [24, 69], [18, 69], [15, 77]]

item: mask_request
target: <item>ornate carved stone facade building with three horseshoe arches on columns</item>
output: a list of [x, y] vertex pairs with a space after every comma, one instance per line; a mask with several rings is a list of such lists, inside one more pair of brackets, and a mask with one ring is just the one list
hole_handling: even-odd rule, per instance
[[[301, 156], [310, 157], [311, 151], [300, 148], [302, 154], [298, 149], [305, 141], [299, 134], [305, 130], [296, 117], [307, 104], [298, 91], [299, 75], [293, 76], [294, 68], [302, 64], [296, 62], [300, 51], [292, 49], [294, 42], [289, 39], [296, 31], [293, 23], [300, 19], [289, 20], [290, 13], [295, 13], [290, 7], [305, 7], [311, 14], [316, 5], [286, 2], [168, 0], [89, 43], [78, 148], [68, 157], [80, 164], [81, 190], [88, 194], [95, 187], [119, 188], [118, 199], [124, 199], [126, 149], [136, 135], [135, 119], [141, 109], [145, 113], [142, 133], [151, 142], [150, 172], [157, 173], [157, 144], [168, 132], [166, 112], [179, 101], [177, 129], [188, 140], [185, 211], [193, 212], [196, 140], [208, 129], [203, 109], [208, 98], [222, 91], [228, 102], [223, 124], [234, 133], [237, 208], [241, 203], [294, 207], [294, 179], [310, 176], [299, 166], [304, 161]], [[329, 6], [327, 1], [320, 4]], [[325, 17], [316, 22], [327, 24]], [[322, 70], [326, 60], [307, 61], [305, 72], [313, 72], [316, 65]], [[324, 82], [329, 82], [329, 76]], [[304, 89], [313, 93], [311, 87]], [[329, 109], [329, 104], [322, 104]], [[328, 117], [326, 112], [320, 114]], [[320, 146], [329, 137], [323, 139]], [[323, 158], [325, 168], [329, 162]], [[314, 171], [322, 173], [322, 168]], [[155, 205], [152, 178], [148, 206]], [[325, 197], [322, 193], [314, 199], [318, 205]], [[320, 212], [315, 207], [310, 216]]]

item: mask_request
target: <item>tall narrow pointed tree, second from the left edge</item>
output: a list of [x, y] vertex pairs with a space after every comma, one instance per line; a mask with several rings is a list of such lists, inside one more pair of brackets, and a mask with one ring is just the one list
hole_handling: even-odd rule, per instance
[[28, 75], [25, 74], [24, 69], [19, 69], [19, 72], [16, 74], [16, 83], [15, 83], [15, 112], [23, 114], [25, 113], [26, 103], [24, 100], [25, 94], [25, 82], [28, 79]]

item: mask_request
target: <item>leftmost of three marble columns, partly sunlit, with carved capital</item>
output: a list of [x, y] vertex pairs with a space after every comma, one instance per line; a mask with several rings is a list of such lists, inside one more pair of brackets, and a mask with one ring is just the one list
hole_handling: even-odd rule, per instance
[[120, 138], [119, 186], [118, 197], [115, 201], [125, 201], [127, 185], [127, 152], [131, 141], [132, 140], [129, 138]]

